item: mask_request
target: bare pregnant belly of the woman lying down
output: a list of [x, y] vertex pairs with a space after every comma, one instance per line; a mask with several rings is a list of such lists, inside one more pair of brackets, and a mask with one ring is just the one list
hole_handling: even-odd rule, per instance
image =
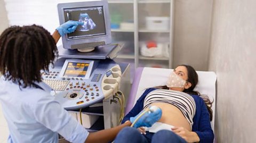
[[162, 117], [158, 122], [173, 125], [174, 127], [183, 127], [191, 131], [190, 124], [179, 108], [168, 103], [152, 103], [162, 109]]

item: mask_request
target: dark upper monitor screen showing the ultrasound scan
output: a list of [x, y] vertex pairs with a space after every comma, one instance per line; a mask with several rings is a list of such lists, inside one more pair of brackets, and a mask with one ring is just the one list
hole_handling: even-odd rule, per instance
[[68, 39], [106, 35], [103, 6], [65, 9], [65, 21], [74, 20], [84, 24], [68, 34]]

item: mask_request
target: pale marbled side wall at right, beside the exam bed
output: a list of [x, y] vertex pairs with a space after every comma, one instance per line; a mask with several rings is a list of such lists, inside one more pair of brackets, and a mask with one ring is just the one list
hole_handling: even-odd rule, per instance
[[209, 69], [217, 73], [218, 142], [256, 141], [255, 6], [255, 0], [214, 0]]

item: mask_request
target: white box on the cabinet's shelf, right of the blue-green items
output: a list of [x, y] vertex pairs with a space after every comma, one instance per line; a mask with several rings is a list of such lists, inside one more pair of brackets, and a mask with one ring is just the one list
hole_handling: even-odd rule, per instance
[[146, 29], [148, 30], [169, 30], [169, 17], [146, 17]]

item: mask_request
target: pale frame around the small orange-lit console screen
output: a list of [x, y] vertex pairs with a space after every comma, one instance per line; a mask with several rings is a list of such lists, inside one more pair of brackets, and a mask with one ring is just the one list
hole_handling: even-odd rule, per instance
[[[65, 72], [67, 70], [67, 66], [69, 62], [75, 62], [75, 63], [89, 63], [88, 69], [86, 71], [85, 77], [69, 77], [69, 76], [65, 76]], [[76, 60], [76, 59], [67, 59], [65, 61], [65, 63], [62, 66], [62, 69], [60, 71], [60, 78], [82, 78], [82, 79], [89, 79], [90, 75], [92, 73], [92, 68], [93, 68], [93, 63], [94, 61], [90, 61], [90, 60]]]

